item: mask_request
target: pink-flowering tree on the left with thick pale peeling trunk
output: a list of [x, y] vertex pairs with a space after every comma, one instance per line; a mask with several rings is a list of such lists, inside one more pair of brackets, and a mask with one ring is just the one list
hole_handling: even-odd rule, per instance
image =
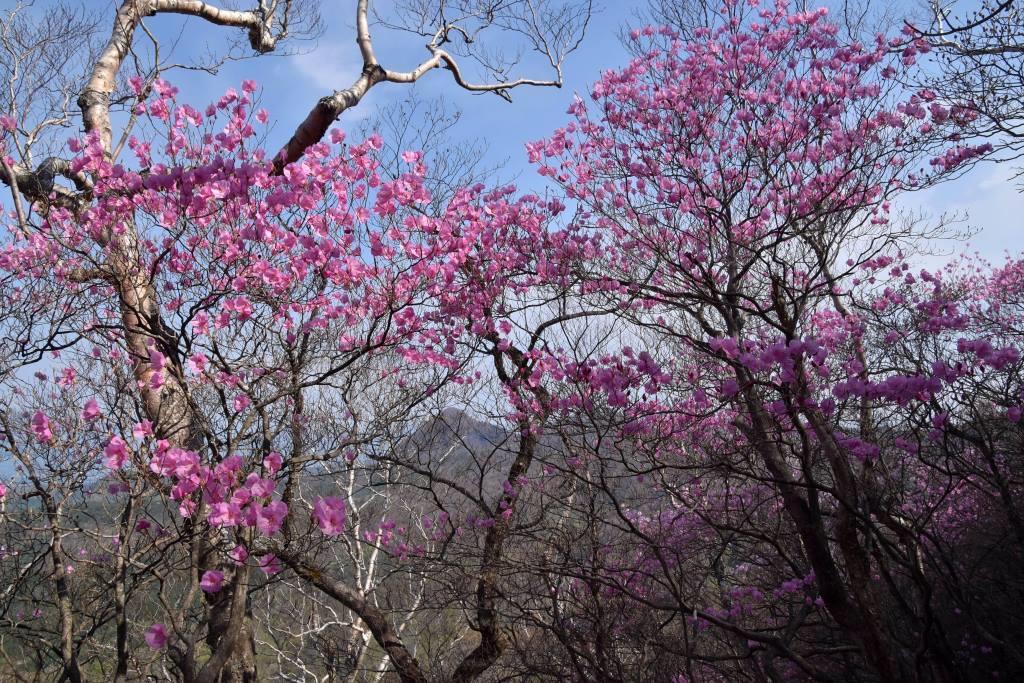
[[[30, 325], [17, 337], [22, 351], [56, 350], [88, 339], [99, 354], [94, 360], [106, 364], [100, 377], [117, 377], [118, 386], [137, 398], [131, 409], [117, 415], [113, 402], [93, 402], [82, 408], [83, 416], [88, 412], [82, 420], [89, 429], [105, 432], [102, 454], [108, 468], [122, 472], [128, 467], [144, 479], [145, 485], [124, 484], [132, 492], [121, 516], [125, 528], [134, 528], [131, 520], [140, 500], [158, 494], [177, 506], [183, 518], [174, 538], [185, 544], [191, 569], [185, 574], [154, 570], [168, 614], [167, 623], [147, 632], [146, 642], [167, 647], [186, 679], [253, 680], [249, 570], [238, 568], [246, 566], [248, 544], [239, 543], [226, 554], [218, 552], [227, 542], [220, 529], [242, 527], [253, 529], [246, 533], [273, 537], [286, 525], [289, 506], [301, 495], [300, 472], [345, 453], [337, 444], [315, 455], [305, 453], [302, 431], [313, 413], [306, 409], [308, 392], [351, 388], [364, 372], [380, 375], [360, 380], [366, 387], [375, 387], [401, 372], [400, 356], [397, 365], [373, 370], [356, 368], [358, 358], [370, 351], [393, 350], [399, 339], [413, 348], [436, 341], [416, 339], [422, 330], [413, 312], [434, 273], [402, 273], [420, 256], [414, 254], [404, 265], [393, 264], [390, 274], [364, 260], [364, 250], [371, 261], [388, 260], [384, 252], [389, 248], [382, 242], [387, 240], [385, 230], [368, 238], [364, 228], [371, 215], [397, 223], [396, 207], [429, 200], [422, 167], [386, 185], [374, 206], [371, 198], [381, 182], [378, 162], [372, 159], [381, 146], [378, 138], [354, 147], [345, 161], [333, 155], [334, 161], [323, 161], [329, 152], [319, 145], [312, 154], [323, 163], [287, 165], [318, 144], [342, 112], [382, 82], [412, 83], [443, 65], [460, 87], [506, 98], [517, 86], [559, 85], [563, 59], [579, 45], [589, 5], [482, 3], [466, 8], [458, 18], [439, 7], [413, 26], [403, 22], [408, 15], [399, 14], [401, 20], [392, 23], [394, 27], [429, 29], [432, 39], [426, 61], [411, 72], [397, 72], [379, 62], [369, 33], [370, 3], [357, 2], [360, 76], [350, 87], [322, 98], [275, 156], [252, 148], [253, 124], [256, 119], [265, 123], [265, 114], [251, 119], [249, 83], [241, 94], [229, 92], [204, 114], [176, 108], [175, 90], [159, 78], [166, 65], [156, 44], [148, 69], [131, 79], [122, 76], [129, 55], [138, 55], [135, 37], [145, 29], [143, 19], [165, 13], [242, 29], [256, 53], [313, 33], [317, 26], [314, 8], [300, 2], [260, 2], [248, 10], [234, 10], [209, 3], [131, 1], [119, 5], [109, 39], [90, 55], [76, 52], [80, 44], [56, 35], [67, 30], [59, 16], [44, 15], [45, 23], [37, 28], [26, 10], [15, 8], [3, 34], [12, 55], [9, 62], [5, 60], [9, 81], [18, 88], [12, 87], [13, 96], [5, 100], [6, 112], [0, 119], [5, 144], [0, 177], [10, 187], [16, 222], [5, 253], [4, 269], [11, 273], [6, 292], [10, 300], [28, 303], [26, 318], [50, 322], [49, 328]], [[68, 16], [76, 20], [79, 38], [93, 30], [75, 15]], [[472, 58], [470, 46], [496, 24], [515, 28], [532, 41], [550, 62], [554, 78], [508, 81], [505, 68], [482, 61], [503, 76], [495, 82], [472, 82], [459, 57]], [[16, 42], [13, 34], [26, 30], [40, 40]], [[52, 157], [37, 164], [34, 153], [45, 143], [46, 134], [75, 120], [67, 104], [80, 86], [54, 81], [48, 70], [79, 63], [86, 78], [77, 102], [87, 135], [73, 145], [71, 152], [78, 155], [74, 160]], [[125, 81], [130, 81], [127, 88], [121, 85]], [[152, 94], [155, 98], [146, 101]], [[127, 103], [129, 111], [127, 124], [116, 132], [112, 108], [119, 103]], [[227, 115], [223, 126], [212, 127], [220, 114]], [[156, 137], [146, 131], [146, 122], [157, 124]], [[341, 137], [336, 134], [333, 141], [339, 143]], [[144, 169], [141, 172], [128, 171], [130, 165], [120, 161], [129, 150], [137, 168]], [[412, 157], [407, 162], [416, 163]], [[70, 183], [55, 181], [59, 178]], [[314, 182], [328, 186], [311, 191]], [[335, 182], [340, 183], [338, 194]], [[309, 212], [317, 214], [311, 221], [305, 219]], [[268, 216], [273, 217], [267, 220]], [[268, 241], [278, 239], [283, 242], [275, 249]], [[402, 251], [400, 257], [404, 256]], [[52, 279], [50, 287], [36, 291], [35, 280], [44, 276]], [[37, 307], [48, 318], [39, 321]], [[83, 317], [68, 314], [69, 310]], [[396, 317], [403, 311], [412, 314]], [[74, 323], [63, 325], [72, 318]], [[36, 344], [40, 337], [42, 343]], [[78, 349], [68, 356], [82, 355]], [[441, 375], [453, 364], [446, 361]], [[76, 372], [74, 361], [69, 371]], [[390, 402], [374, 405], [375, 424], [385, 415], [395, 419], [415, 404], [417, 395], [436, 384], [435, 378], [388, 395]], [[119, 397], [119, 402], [123, 400]], [[353, 441], [370, 439], [360, 431], [365, 414], [348, 403], [348, 399], [342, 403], [347, 411], [342, 415], [348, 419], [335, 422], [335, 428], [350, 431]], [[30, 411], [32, 434], [42, 444], [62, 443], [56, 416], [41, 408]], [[12, 430], [9, 440], [16, 449]], [[78, 433], [67, 429], [63, 436]], [[288, 458], [273, 450], [284, 449], [278, 445], [282, 439], [290, 446]], [[244, 456], [239, 455], [246, 449]], [[35, 476], [31, 469], [30, 478]], [[57, 499], [80, 488], [88, 471], [86, 467], [81, 475], [63, 477]], [[274, 494], [272, 480], [278, 474], [290, 481], [280, 495]], [[248, 477], [244, 482], [239, 478], [243, 475]], [[129, 478], [134, 481], [134, 476]], [[202, 499], [197, 498], [200, 492]], [[53, 571], [59, 573], [65, 503], [51, 502], [47, 496], [43, 500], [53, 525]], [[337, 505], [316, 509], [322, 518], [334, 519], [329, 528], [336, 532], [341, 514]], [[161, 520], [161, 533], [167, 530], [165, 521]], [[294, 533], [291, 526], [286, 530]], [[125, 539], [119, 539], [119, 547], [126, 548]], [[134, 561], [125, 558], [127, 552], [121, 552], [121, 560]], [[169, 554], [166, 549], [165, 553]], [[270, 553], [259, 562], [267, 573], [279, 566]], [[58, 591], [66, 593], [59, 586]], [[197, 596], [206, 605], [207, 616], [199, 626], [206, 630], [202, 637], [195, 627]], [[119, 594], [116, 678], [127, 676], [131, 658], [125, 646], [125, 601]], [[60, 633], [63, 676], [81, 680], [78, 650], [86, 634], [67, 609], [61, 610]], [[205, 661], [196, 658], [201, 646], [212, 653]]]

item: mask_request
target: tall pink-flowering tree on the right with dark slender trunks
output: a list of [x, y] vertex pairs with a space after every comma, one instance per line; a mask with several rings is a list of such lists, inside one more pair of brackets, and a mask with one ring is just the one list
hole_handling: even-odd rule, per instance
[[[771, 615], [759, 604], [780, 585], [786, 594], [812, 586], [810, 604], [842, 634], [827, 647], [853, 645], [884, 680], [955, 677], [959, 634], [936, 612], [942, 580], [922, 566], [924, 538], [937, 529], [908, 521], [902, 506], [920, 498], [903, 478], [906, 456], [888, 450], [906, 429], [894, 407], [914, 405], [943, 433], [940, 396], [953, 375], [992, 362], [1006, 371], [1019, 352], [985, 346], [976, 370], [919, 365], [903, 374], [877, 355], [901, 335], [872, 338], [870, 324], [907, 305], [883, 281], [914, 282], [901, 253], [912, 234], [891, 223], [891, 198], [989, 147], [956, 141], [972, 112], [895, 85], [927, 49], [922, 40], [844, 44], [823, 10], [791, 14], [785, 3], [744, 14], [726, 2], [688, 42], [669, 30], [635, 32], [647, 46], [594, 86], [597, 118], [579, 101], [570, 125], [529, 147], [579, 202], [580, 229], [606, 239], [590, 296], [614, 300], [651, 349], [624, 349], [580, 378], [617, 416], [629, 444], [616, 450], [623, 471], [664, 480], [653, 511], [603, 495], [620, 501], [616, 525], [650, 548], [645, 562], [668, 582], [659, 606], [738, 638], [733, 656], [768, 671], [781, 656], [790, 675], [831, 675], [835, 659], [819, 668], [813, 647], [793, 649], [805, 610]], [[963, 352], [981, 342], [958, 343]], [[922, 364], [921, 342], [913, 353]], [[1005, 396], [1010, 408], [1019, 400]], [[590, 450], [605, 471], [609, 456]], [[945, 469], [922, 461], [912, 469], [924, 480]], [[993, 481], [989, 490], [1016, 509], [1000, 488]], [[761, 517], [771, 511], [787, 526], [765, 528], [777, 523]], [[679, 555], [726, 529], [723, 552], [758, 549], [768, 559], [754, 565], [767, 573], [719, 563], [708, 579], [720, 586], [720, 606], [701, 613], [708, 597], [678, 583]], [[673, 541], [680, 547], [666, 548]], [[652, 599], [651, 580], [626, 575], [615, 585], [636, 591], [641, 582], [638, 597]], [[714, 658], [700, 638], [687, 642], [689, 656]]]

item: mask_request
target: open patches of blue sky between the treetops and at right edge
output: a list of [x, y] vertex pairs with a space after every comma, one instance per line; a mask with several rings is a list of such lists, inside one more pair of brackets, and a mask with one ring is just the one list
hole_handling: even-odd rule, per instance
[[[108, 0], [90, 1], [97, 7], [105, 7], [108, 12], [112, 9]], [[268, 142], [276, 148], [318, 97], [347, 87], [357, 75], [360, 62], [354, 41], [354, 4], [352, 0], [325, 3], [324, 35], [315, 43], [297, 46], [297, 54], [229, 62], [215, 77], [177, 72], [169, 78], [181, 87], [183, 98], [196, 104], [219, 96], [226, 87], [237, 86], [243, 79], [256, 79], [262, 86], [261, 104], [271, 115]], [[379, 4], [385, 6], [384, 2]], [[562, 125], [567, 120], [565, 110], [573, 93], [586, 95], [589, 84], [602, 70], [627, 61], [629, 54], [618, 35], [624, 26], [636, 24], [637, 12], [645, 5], [643, 1], [607, 0], [599, 7], [582, 47], [565, 63], [565, 84], [560, 90], [518, 88], [512, 91], [513, 102], [509, 103], [493, 94], [466, 92], [440, 70], [427, 74], [415, 87], [424, 98], [441, 96], [462, 112], [454, 132], [456, 142], [473, 138], [485, 141], [486, 163], [505, 162], [503, 176], [519, 175], [521, 184], [537, 186], [539, 179], [526, 164], [523, 145]], [[224, 29], [168, 16], [151, 19], [151, 28], [168, 46], [177, 39], [175, 51], [182, 57], [222, 49], [225, 36], [230, 35]], [[380, 27], [372, 33], [378, 58], [385, 68], [409, 70], [427, 55], [422, 46], [424, 41], [415, 36]], [[512, 42], [504, 37], [501, 41]], [[521, 71], [524, 76], [547, 75], [543, 69], [531, 69], [529, 63]], [[375, 87], [357, 108], [342, 116], [338, 125], [354, 131], [380, 108], [406, 97], [409, 88], [389, 83]], [[1011, 165], [981, 165], [953, 182], [904, 198], [901, 204], [907, 209], [923, 211], [932, 220], [943, 215], [963, 219], [959, 226], [975, 232], [969, 243], [935, 244], [935, 253], [923, 257], [924, 260], [936, 265], [959, 251], [977, 250], [997, 262], [1007, 250], [1019, 251], [1024, 228], [1024, 195], [1018, 189], [1019, 183], [1012, 180], [1013, 173]]]

